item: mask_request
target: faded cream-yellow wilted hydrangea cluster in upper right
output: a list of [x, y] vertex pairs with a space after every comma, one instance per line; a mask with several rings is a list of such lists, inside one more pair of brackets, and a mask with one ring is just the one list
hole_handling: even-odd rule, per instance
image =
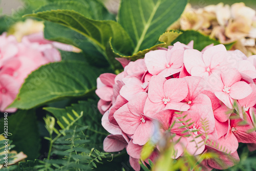
[[188, 4], [179, 22], [170, 29], [197, 30], [222, 44], [237, 41], [234, 49], [247, 56], [256, 54], [256, 11], [244, 3], [220, 3], [199, 9]]

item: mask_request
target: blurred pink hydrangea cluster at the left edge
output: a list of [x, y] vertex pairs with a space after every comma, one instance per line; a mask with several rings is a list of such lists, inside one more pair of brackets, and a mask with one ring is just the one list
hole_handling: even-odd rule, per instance
[[[38, 67], [49, 62], [60, 61], [61, 56], [54, 47], [57, 44], [62, 49], [68, 45], [51, 42], [44, 39], [42, 32], [23, 37], [18, 42], [12, 35], [0, 35], [0, 111], [15, 112], [7, 109], [15, 99], [25, 78]], [[70, 50], [68, 48], [67, 50]]]

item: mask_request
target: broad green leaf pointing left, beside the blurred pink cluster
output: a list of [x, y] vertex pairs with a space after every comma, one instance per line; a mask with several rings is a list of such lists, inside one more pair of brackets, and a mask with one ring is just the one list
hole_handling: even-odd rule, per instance
[[31, 109], [66, 97], [96, 90], [99, 69], [82, 61], [61, 61], [41, 66], [26, 78], [10, 108]]

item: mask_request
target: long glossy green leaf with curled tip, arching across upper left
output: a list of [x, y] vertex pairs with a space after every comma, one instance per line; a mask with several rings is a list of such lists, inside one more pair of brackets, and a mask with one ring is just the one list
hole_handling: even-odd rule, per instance
[[66, 26], [86, 36], [102, 50], [113, 38], [113, 46], [124, 54], [129, 54], [133, 49], [130, 36], [113, 20], [94, 20], [72, 10], [52, 10], [28, 14], [26, 16], [38, 17]]

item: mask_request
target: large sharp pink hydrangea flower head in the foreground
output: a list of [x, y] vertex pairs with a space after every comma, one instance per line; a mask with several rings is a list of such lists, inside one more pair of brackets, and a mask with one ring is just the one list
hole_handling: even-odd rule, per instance
[[[200, 52], [191, 41], [150, 51], [144, 59], [119, 61], [123, 72], [97, 79], [102, 125], [111, 134], [103, 142], [104, 151], [126, 148], [131, 166], [140, 170], [141, 149], [159, 130], [158, 137], [176, 135], [172, 158], [185, 150], [195, 156], [217, 152], [224, 165], [215, 159], [201, 163], [203, 170], [211, 170], [239, 161], [239, 142], [256, 149], [256, 55], [247, 58], [224, 45]], [[153, 162], [161, 151], [156, 147]]]

